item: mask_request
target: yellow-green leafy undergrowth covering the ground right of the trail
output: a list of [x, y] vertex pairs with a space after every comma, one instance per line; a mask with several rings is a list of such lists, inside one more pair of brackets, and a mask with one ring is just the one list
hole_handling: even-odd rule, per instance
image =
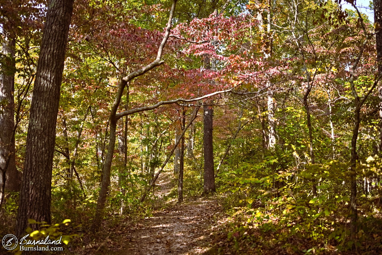
[[[217, 253], [381, 254], [380, 188], [359, 192], [358, 231], [351, 233], [348, 164], [329, 161], [296, 174], [282, 159], [269, 156], [219, 177], [231, 218], [217, 231]], [[379, 169], [357, 167], [365, 176], [378, 176]], [[319, 182], [317, 196], [312, 180]]]

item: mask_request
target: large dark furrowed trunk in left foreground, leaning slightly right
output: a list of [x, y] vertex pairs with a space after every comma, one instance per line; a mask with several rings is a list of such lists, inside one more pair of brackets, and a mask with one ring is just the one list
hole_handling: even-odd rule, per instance
[[56, 121], [73, 0], [52, 0], [45, 21], [29, 117], [16, 234], [28, 219], [50, 223]]

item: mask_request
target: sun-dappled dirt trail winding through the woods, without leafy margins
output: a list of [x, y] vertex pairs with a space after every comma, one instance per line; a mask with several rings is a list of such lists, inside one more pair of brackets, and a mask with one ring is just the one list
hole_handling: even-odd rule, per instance
[[[168, 195], [173, 188], [170, 178], [174, 178], [172, 174], [162, 174], [157, 180], [155, 195]], [[131, 227], [130, 241], [120, 254], [213, 254], [209, 247], [210, 234], [222, 216], [219, 203], [206, 198], [154, 211], [152, 217]]]

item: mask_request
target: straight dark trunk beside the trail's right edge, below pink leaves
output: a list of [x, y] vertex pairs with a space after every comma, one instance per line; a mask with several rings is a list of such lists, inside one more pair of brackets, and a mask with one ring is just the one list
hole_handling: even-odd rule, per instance
[[203, 148], [204, 148], [204, 184], [203, 194], [215, 192], [214, 175], [214, 149], [212, 145], [212, 116], [214, 108], [212, 106], [203, 106], [204, 130], [203, 130]]

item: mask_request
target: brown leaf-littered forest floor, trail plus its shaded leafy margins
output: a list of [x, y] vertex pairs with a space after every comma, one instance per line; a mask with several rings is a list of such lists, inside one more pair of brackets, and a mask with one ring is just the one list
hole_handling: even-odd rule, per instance
[[[219, 243], [214, 233], [222, 231], [227, 215], [218, 199], [197, 198], [176, 203], [164, 198], [174, 188], [172, 173], [164, 172], [155, 185], [158, 197], [151, 217], [138, 222], [122, 221], [109, 229], [102, 243], [86, 245], [81, 254], [165, 255], [215, 254], [212, 243]], [[154, 208], [155, 208], [154, 207]], [[221, 242], [221, 241], [220, 241]]]

